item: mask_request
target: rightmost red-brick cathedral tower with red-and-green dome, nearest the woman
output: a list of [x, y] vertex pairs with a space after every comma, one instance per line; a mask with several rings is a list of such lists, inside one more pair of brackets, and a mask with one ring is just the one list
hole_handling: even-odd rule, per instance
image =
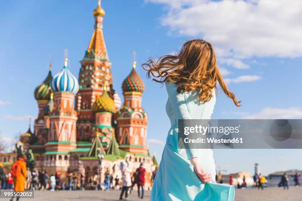
[[117, 115], [117, 142], [120, 148], [133, 154], [148, 155], [147, 124], [148, 115], [142, 108], [142, 94], [145, 84], [133, 69], [122, 83], [124, 104]]

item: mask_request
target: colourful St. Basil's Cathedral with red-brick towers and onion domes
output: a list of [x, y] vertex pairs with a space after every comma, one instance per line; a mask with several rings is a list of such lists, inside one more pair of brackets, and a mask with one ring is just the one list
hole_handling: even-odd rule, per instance
[[[119, 164], [126, 161], [133, 172], [144, 163], [146, 187], [157, 166], [147, 145], [148, 115], [142, 108], [145, 85], [135, 70], [122, 82], [124, 102], [113, 88], [112, 63], [103, 36], [105, 11], [99, 0], [93, 11], [94, 32], [80, 62], [78, 79], [64, 67], [52, 76], [51, 65], [44, 81], [34, 92], [38, 117], [31, 129], [21, 135], [24, 150], [31, 149], [36, 167], [48, 174], [60, 171], [104, 178], [119, 176]], [[1, 154], [2, 162], [14, 161], [15, 153]]]

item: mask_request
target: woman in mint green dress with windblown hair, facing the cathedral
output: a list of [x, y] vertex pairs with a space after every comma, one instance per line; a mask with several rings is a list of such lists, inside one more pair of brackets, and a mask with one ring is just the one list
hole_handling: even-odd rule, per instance
[[211, 149], [180, 149], [179, 119], [211, 119], [216, 103], [216, 84], [236, 100], [217, 66], [213, 46], [204, 40], [187, 41], [178, 55], [150, 59], [143, 68], [147, 76], [165, 83], [166, 112], [171, 122], [151, 201], [233, 201], [234, 187], [215, 182], [216, 168]]

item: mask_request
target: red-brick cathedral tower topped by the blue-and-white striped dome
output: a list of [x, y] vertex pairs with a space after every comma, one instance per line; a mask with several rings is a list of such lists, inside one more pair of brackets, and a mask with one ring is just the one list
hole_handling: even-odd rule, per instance
[[46, 151], [70, 151], [76, 148], [76, 120], [74, 98], [78, 92], [76, 77], [67, 68], [67, 58], [63, 69], [51, 81], [54, 92], [54, 108], [49, 115], [49, 132]]

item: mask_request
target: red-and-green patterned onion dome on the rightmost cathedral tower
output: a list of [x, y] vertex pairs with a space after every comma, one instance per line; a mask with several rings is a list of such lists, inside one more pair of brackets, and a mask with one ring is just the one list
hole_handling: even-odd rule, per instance
[[138, 75], [135, 70], [136, 62], [133, 62], [133, 69], [130, 74], [124, 79], [122, 84], [123, 92], [140, 92], [143, 93], [145, 90], [145, 84], [142, 78]]

